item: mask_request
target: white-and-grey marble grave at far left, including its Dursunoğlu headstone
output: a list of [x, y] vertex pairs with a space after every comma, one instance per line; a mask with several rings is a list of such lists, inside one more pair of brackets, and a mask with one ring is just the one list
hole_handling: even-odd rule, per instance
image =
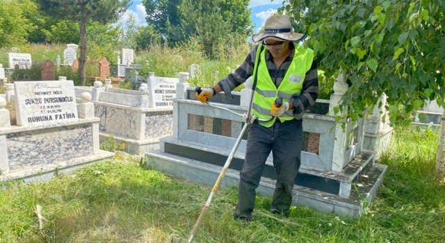
[[0, 97], [0, 181], [48, 179], [100, 162], [114, 153], [99, 149], [99, 118], [89, 93], [76, 103], [73, 81], [15, 82], [17, 124]]

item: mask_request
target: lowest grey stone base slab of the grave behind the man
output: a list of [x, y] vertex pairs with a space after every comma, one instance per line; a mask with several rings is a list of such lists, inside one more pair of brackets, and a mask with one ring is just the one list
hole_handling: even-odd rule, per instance
[[[198, 183], [213, 185], [220, 174], [221, 167], [209, 165], [197, 160], [190, 160], [181, 156], [166, 156], [159, 150], [147, 153], [147, 167], [163, 171], [170, 176], [186, 178]], [[357, 189], [357, 193], [351, 193], [349, 199], [312, 190], [307, 187], [294, 187], [293, 205], [314, 208], [321, 212], [336, 213], [343, 216], [358, 217], [366, 210], [366, 205], [371, 203], [375, 192], [381, 185], [381, 180], [385, 174], [386, 166], [381, 165], [373, 172], [375, 175], [370, 176], [370, 180], [366, 185], [361, 185]], [[227, 187], [236, 186], [239, 183], [238, 171], [228, 169], [220, 187], [224, 190]], [[260, 185], [257, 189], [261, 196], [272, 196], [275, 188], [275, 180], [270, 178], [261, 178]], [[362, 198], [362, 199], [361, 199]]]

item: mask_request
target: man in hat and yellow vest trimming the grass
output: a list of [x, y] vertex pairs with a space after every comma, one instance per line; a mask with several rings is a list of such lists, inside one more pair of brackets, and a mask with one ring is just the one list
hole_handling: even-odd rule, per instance
[[[202, 102], [221, 91], [230, 95], [235, 87], [253, 76], [256, 87], [252, 114], [261, 120], [272, 119], [267, 122], [257, 119], [249, 128], [235, 219], [252, 220], [255, 190], [270, 151], [277, 173], [270, 212], [287, 216], [291, 207], [294, 180], [300, 169], [302, 116], [318, 96], [314, 51], [292, 42], [302, 37], [292, 32], [289, 16], [269, 17], [264, 32], [252, 37], [254, 42], [260, 43], [250, 51], [243, 64], [217, 85], [195, 94]], [[283, 103], [276, 107], [274, 101], [278, 97]]]

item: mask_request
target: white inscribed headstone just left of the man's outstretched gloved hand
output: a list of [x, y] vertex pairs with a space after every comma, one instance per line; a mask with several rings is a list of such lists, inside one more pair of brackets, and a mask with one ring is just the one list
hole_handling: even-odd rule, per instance
[[172, 108], [178, 78], [149, 77], [149, 107]]

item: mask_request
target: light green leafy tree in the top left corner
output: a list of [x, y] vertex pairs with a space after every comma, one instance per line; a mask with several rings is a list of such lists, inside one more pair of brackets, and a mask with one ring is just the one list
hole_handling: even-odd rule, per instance
[[26, 42], [35, 26], [26, 18], [26, 12], [36, 10], [29, 0], [0, 0], [0, 47]]

